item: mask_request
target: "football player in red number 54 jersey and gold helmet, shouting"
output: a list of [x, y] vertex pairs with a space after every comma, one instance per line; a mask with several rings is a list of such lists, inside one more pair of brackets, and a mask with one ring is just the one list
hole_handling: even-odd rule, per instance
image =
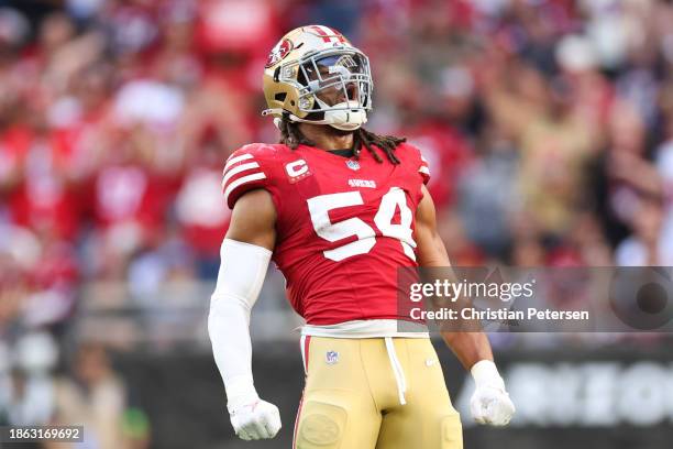
[[[243, 439], [273, 438], [278, 408], [261, 399], [249, 322], [269, 260], [306, 319], [306, 387], [296, 448], [461, 448], [462, 430], [428, 332], [400, 331], [397, 270], [449, 266], [424, 186], [430, 168], [404, 139], [365, 130], [367, 57], [321, 25], [286, 34], [264, 72], [279, 144], [227, 161], [233, 209], [221, 247], [209, 333], [228, 409]], [[443, 332], [476, 383], [478, 423], [504, 426], [515, 407], [481, 332]]]

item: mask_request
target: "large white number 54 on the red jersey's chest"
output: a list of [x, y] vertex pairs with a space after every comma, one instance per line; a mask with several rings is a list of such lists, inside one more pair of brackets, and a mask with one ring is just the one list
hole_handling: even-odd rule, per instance
[[[333, 250], [323, 251], [326, 258], [339, 262], [352, 255], [368, 253], [376, 244], [376, 232], [360, 218], [349, 218], [335, 223], [330, 221], [330, 210], [363, 205], [364, 201], [360, 191], [320, 195], [308, 199], [307, 202], [313, 229], [318, 236], [330, 242], [352, 236], [357, 237], [357, 240], [353, 242]], [[400, 222], [393, 223], [393, 217], [397, 208], [399, 208]], [[411, 231], [412, 218], [411, 209], [407, 206], [405, 191], [399, 187], [391, 187], [380, 198], [378, 211], [374, 216], [374, 223], [383, 236], [399, 240], [405, 254], [416, 261], [416, 255], [413, 254], [416, 242]]]

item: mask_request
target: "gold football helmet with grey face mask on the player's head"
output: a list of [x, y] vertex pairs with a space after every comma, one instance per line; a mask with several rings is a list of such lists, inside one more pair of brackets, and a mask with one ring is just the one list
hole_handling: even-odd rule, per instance
[[264, 70], [263, 116], [353, 131], [372, 109], [369, 59], [339, 32], [295, 29], [274, 46]]

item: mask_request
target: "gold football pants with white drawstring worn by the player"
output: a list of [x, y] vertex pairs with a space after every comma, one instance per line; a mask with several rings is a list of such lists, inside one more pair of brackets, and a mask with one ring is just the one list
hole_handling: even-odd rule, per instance
[[307, 377], [293, 448], [463, 447], [429, 339], [302, 337], [301, 344]]

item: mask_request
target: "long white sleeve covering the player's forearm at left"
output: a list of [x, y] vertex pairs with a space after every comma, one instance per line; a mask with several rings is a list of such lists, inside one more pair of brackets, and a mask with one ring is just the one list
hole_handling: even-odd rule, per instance
[[250, 311], [257, 300], [272, 252], [224, 239], [218, 283], [210, 298], [208, 333], [224, 381], [230, 410], [257, 398], [252, 376]]

